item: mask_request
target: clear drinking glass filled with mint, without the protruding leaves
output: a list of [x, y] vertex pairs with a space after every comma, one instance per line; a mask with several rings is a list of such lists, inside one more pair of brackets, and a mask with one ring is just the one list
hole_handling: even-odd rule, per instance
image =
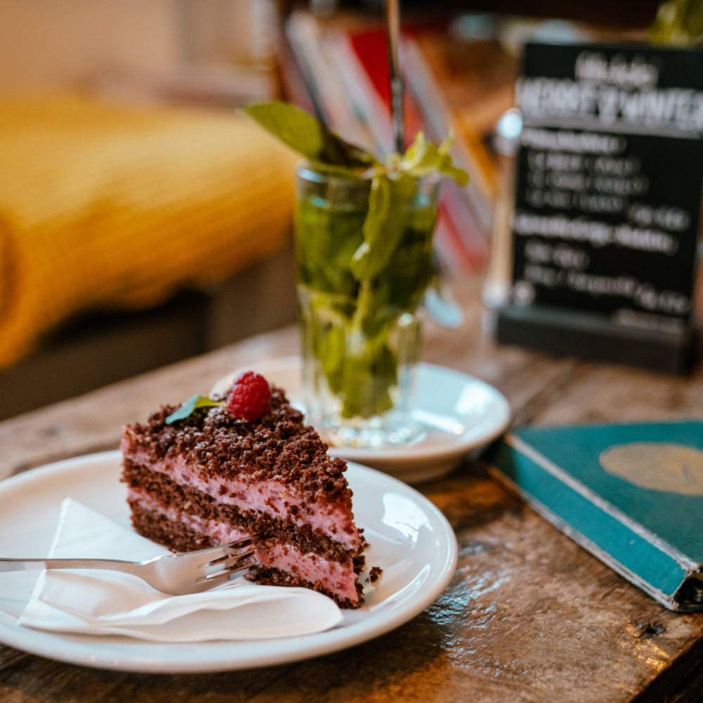
[[[399, 245], [373, 278], [358, 280], [371, 181], [302, 162], [297, 167], [295, 259], [307, 419], [333, 446], [407, 444], [420, 358], [422, 301], [434, 275], [439, 176], [415, 179], [399, 207]], [[396, 222], [398, 220], [396, 219]], [[360, 248], [361, 247], [361, 248]]]

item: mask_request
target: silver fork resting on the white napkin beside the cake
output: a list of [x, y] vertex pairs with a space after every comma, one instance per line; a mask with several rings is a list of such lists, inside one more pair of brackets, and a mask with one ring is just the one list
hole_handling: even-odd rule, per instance
[[165, 554], [144, 562], [120, 559], [9, 559], [0, 558], [0, 572], [28, 569], [108, 569], [133, 574], [157, 591], [170, 595], [200, 593], [248, 569], [256, 551], [253, 539], [239, 539], [197, 552]]

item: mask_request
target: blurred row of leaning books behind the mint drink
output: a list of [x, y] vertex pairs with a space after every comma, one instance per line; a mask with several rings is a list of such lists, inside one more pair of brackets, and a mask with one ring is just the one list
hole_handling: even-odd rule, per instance
[[[289, 98], [349, 141], [385, 157], [392, 151], [385, 32], [380, 20], [323, 20], [299, 10], [281, 37]], [[479, 272], [489, 254], [498, 167], [489, 135], [512, 106], [517, 63], [493, 39], [461, 37], [446, 20], [404, 22], [406, 142], [424, 131], [434, 143], [454, 134], [452, 155], [470, 176], [442, 186], [436, 243], [448, 273]]]

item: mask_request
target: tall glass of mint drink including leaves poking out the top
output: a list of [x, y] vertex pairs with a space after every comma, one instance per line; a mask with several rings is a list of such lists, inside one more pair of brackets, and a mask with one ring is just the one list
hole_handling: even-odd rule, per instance
[[449, 141], [437, 147], [418, 134], [404, 155], [381, 162], [287, 103], [245, 111], [305, 159], [295, 258], [309, 422], [337, 446], [411, 441], [439, 180], [463, 184], [465, 172]]

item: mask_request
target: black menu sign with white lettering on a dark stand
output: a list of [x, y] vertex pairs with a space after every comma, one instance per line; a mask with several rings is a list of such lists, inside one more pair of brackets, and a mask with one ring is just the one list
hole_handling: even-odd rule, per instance
[[703, 52], [528, 44], [498, 340], [680, 370], [703, 185]]

